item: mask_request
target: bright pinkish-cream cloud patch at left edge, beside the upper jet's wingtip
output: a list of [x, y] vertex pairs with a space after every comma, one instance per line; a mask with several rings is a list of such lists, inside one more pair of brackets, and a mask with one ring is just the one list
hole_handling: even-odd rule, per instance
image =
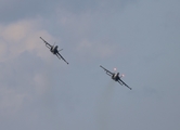
[[47, 53], [43, 53], [46, 49], [39, 39], [40, 36], [51, 38], [46, 30], [40, 28], [39, 21], [24, 20], [10, 25], [1, 25], [0, 61], [17, 57], [25, 51], [36, 53], [41, 58], [48, 57]]

